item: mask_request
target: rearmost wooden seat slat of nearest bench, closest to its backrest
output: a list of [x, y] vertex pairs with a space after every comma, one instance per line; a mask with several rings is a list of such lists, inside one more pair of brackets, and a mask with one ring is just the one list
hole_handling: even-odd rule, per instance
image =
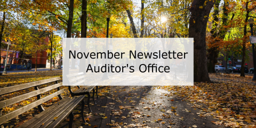
[[51, 107], [49, 107], [46, 110], [42, 111], [42, 113], [39, 113], [35, 117], [29, 119], [29, 121], [27, 121], [24, 124], [20, 125], [18, 128], [25, 128], [25, 127], [29, 127], [31, 124], [35, 124], [35, 122], [38, 122], [38, 119], [42, 118], [45, 114], [52, 113], [54, 111], [54, 109], [60, 108], [63, 105], [63, 103], [66, 103], [69, 100], [70, 100], [70, 98], [65, 97], [64, 99], [58, 101], [57, 103], [54, 103], [54, 105], [52, 105]]

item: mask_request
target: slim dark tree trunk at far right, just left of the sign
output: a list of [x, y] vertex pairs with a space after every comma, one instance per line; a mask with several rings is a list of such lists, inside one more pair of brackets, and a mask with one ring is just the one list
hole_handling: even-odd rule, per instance
[[[244, 22], [244, 38], [246, 37], [246, 34], [247, 34], [247, 22], [248, 22], [248, 18], [249, 18], [249, 13], [250, 11], [248, 10], [248, 4], [249, 4], [249, 1], [246, 1], [246, 5], [245, 5], [245, 9], [246, 9], [246, 17], [245, 17], [245, 22]], [[244, 64], [245, 64], [245, 49], [246, 49], [246, 46], [245, 46], [245, 39], [243, 39], [243, 57], [242, 57], [242, 64], [241, 64], [241, 74], [240, 76], [245, 76], [244, 74]]]

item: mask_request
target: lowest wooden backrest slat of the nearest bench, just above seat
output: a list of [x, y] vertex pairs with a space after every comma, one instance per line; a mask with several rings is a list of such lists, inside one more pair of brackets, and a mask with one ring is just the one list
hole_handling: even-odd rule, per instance
[[39, 100], [37, 100], [35, 102], [29, 103], [28, 105], [26, 105], [26, 106], [24, 106], [22, 108], [14, 110], [11, 113], [7, 113], [5, 115], [0, 116], [0, 124], [3, 124], [4, 122], [9, 121], [10, 119], [12, 119], [12, 118], [14, 118], [14, 117], [16, 117], [16, 116], [18, 116], [18, 115], [20, 115], [22, 113], [25, 113], [26, 111], [28, 111], [28, 110], [30, 110], [30, 109], [38, 106], [38, 105], [41, 105], [42, 103], [52, 99], [53, 97], [57, 97], [57, 95], [63, 93], [64, 91], [65, 90], [62, 89], [62, 90], [57, 91], [55, 93], [52, 93], [51, 95], [48, 95], [48, 96], [46, 96], [46, 97], [44, 97], [42, 99], [39, 99]]

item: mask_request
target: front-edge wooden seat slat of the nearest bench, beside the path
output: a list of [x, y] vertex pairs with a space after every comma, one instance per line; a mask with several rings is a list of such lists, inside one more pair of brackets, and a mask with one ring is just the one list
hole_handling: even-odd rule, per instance
[[[76, 102], [73, 103], [69, 108], [67, 108], [51, 125], [48, 127], [57, 127], [64, 119], [73, 111], [73, 109], [82, 101], [84, 100], [85, 96], [82, 95], [79, 97]], [[42, 127], [44, 128], [44, 127]]]

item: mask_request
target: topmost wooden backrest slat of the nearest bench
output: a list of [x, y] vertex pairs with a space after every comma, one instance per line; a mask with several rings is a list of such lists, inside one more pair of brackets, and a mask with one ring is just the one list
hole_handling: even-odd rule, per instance
[[54, 78], [45, 79], [42, 81], [36, 81], [36, 82], [31, 82], [31, 83], [26, 83], [26, 84], [4, 87], [4, 88], [0, 89], [0, 95], [23, 90], [23, 89], [28, 89], [29, 87], [34, 87], [37, 85], [42, 85], [42, 84], [58, 81], [60, 79], [61, 79], [60, 77], [54, 77]]

